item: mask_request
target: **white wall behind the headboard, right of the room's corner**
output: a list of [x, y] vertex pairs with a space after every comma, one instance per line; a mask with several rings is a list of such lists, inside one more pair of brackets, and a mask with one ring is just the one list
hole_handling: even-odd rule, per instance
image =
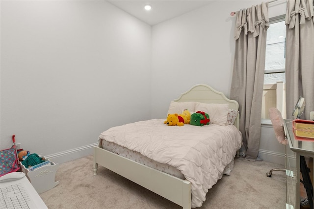
[[[236, 19], [230, 13], [261, 2], [213, 1], [153, 26], [152, 118], [164, 118], [170, 101], [198, 83], [230, 96]], [[268, 11], [269, 17], [285, 14], [286, 1], [270, 3]], [[267, 161], [284, 163], [284, 148], [276, 140], [271, 124], [262, 126], [260, 155]]]

